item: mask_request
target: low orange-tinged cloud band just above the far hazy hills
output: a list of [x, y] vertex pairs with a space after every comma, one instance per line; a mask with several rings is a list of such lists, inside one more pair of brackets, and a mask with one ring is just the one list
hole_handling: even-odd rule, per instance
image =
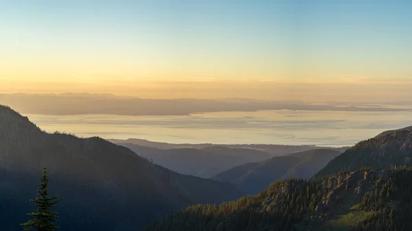
[[[0, 79], [0, 93], [108, 93], [145, 99], [223, 99], [252, 98], [272, 101], [404, 101], [412, 98], [408, 80], [333, 78], [264, 80], [108, 80], [94, 82], [49, 81], [12, 82]], [[310, 81], [309, 81], [310, 80]]]

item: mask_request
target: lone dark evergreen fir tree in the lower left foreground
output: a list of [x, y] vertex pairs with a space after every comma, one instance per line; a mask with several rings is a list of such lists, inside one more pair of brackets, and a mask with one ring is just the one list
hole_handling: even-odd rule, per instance
[[27, 213], [27, 215], [34, 217], [34, 219], [21, 224], [25, 226], [25, 230], [27, 231], [32, 229], [36, 231], [54, 231], [59, 228], [56, 226], [58, 219], [57, 212], [52, 210], [52, 207], [60, 202], [62, 198], [56, 195], [49, 196], [49, 191], [47, 191], [48, 184], [47, 169], [44, 168], [41, 184], [37, 191], [39, 197], [30, 199], [30, 202], [33, 202], [37, 208], [35, 212]]

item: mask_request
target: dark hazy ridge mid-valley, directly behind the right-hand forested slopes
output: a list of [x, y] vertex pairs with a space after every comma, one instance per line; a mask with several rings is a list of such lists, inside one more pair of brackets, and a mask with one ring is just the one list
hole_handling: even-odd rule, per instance
[[212, 179], [231, 182], [240, 189], [256, 194], [275, 180], [285, 178], [311, 178], [341, 151], [312, 149], [286, 156], [277, 156], [262, 162], [247, 163], [223, 171]]

